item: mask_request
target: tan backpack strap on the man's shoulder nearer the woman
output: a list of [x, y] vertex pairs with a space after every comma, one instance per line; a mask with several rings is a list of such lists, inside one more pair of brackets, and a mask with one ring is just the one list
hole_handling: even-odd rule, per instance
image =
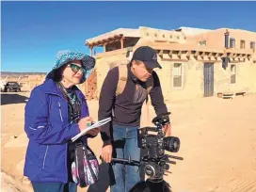
[[127, 65], [120, 65], [118, 68], [119, 68], [119, 82], [116, 90], [116, 96], [119, 96], [124, 90], [127, 82], [127, 76], [128, 76]]

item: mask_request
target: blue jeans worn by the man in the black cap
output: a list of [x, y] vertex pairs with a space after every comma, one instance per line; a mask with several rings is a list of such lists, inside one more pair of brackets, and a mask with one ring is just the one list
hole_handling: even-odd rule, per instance
[[[139, 160], [140, 149], [137, 146], [137, 128], [120, 125], [113, 126], [113, 151], [114, 154], [116, 153], [114, 156], [125, 159], [130, 156], [133, 160]], [[124, 166], [120, 163], [114, 163], [112, 168], [116, 184], [110, 186], [111, 192], [129, 192], [135, 184], [140, 182], [139, 168], [137, 166]]]

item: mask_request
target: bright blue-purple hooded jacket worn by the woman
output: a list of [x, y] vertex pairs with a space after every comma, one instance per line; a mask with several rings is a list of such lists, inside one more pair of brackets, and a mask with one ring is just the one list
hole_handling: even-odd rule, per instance
[[[81, 102], [80, 118], [88, 117], [83, 93], [75, 90]], [[24, 176], [33, 182], [68, 182], [68, 140], [80, 133], [77, 123], [68, 121], [68, 102], [53, 80], [31, 91], [24, 110], [24, 131], [29, 138]], [[87, 143], [86, 136], [83, 136]]]

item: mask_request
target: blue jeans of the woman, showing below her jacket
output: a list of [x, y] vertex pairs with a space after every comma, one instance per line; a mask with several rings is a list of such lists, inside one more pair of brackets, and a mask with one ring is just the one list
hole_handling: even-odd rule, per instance
[[76, 192], [76, 184], [62, 183], [37, 183], [31, 182], [35, 192]]

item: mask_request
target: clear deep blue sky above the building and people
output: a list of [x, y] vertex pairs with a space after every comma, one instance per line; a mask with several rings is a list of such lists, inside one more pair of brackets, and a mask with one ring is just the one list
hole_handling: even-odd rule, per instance
[[120, 27], [256, 31], [256, 2], [1, 2], [1, 71], [48, 72], [59, 50]]

